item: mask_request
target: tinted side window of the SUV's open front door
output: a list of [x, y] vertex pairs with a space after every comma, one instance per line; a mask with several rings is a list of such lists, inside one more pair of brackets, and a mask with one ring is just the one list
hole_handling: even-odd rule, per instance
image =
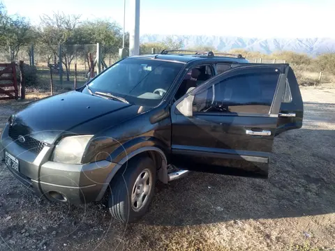
[[278, 73], [239, 75], [195, 95], [193, 112], [269, 114]]

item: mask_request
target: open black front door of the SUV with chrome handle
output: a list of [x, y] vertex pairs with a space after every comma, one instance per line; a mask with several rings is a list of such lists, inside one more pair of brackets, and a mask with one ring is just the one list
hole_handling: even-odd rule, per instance
[[239, 66], [177, 100], [172, 164], [182, 169], [267, 177], [287, 64]]

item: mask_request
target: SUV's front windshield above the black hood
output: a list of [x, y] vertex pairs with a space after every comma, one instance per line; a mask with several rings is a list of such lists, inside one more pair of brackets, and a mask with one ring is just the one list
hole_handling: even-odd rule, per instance
[[[88, 84], [92, 93], [110, 93], [135, 105], [161, 102], [183, 63], [155, 59], [124, 59]], [[89, 93], [87, 86], [82, 91]]]

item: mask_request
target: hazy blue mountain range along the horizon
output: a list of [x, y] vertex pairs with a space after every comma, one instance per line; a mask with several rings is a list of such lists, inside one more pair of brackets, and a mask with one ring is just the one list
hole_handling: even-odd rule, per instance
[[196, 45], [211, 45], [217, 50], [229, 51], [235, 48], [244, 50], [258, 51], [265, 54], [272, 52], [290, 50], [293, 52], [304, 52], [313, 56], [322, 52], [335, 52], [334, 38], [241, 38], [225, 36], [165, 36], [149, 35], [141, 36], [141, 43], [156, 42], [172, 37], [175, 40], [182, 40], [184, 47], [193, 47]]

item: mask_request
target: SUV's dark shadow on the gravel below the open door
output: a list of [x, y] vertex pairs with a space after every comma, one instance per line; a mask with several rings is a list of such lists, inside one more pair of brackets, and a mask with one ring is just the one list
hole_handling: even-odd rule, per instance
[[334, 138], [334, 130], [278, 135], [267, 180], [193, 172], [159, 184], [142, 223], [183, 226], [334, 213]]

